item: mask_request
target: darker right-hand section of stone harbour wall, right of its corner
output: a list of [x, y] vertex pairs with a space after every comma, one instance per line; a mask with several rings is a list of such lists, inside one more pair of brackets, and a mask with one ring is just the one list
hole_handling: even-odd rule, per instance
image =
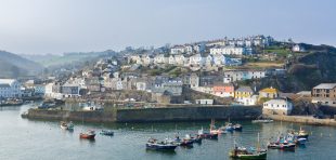
[[119, 109], [119, 122], [146, 121], [201, 121], [210, 119], [256, 119], [261, 115], [261, 107], [250, 106], [220, 106], [220, 107], [175, 107], [175, 108], [146, 108]]

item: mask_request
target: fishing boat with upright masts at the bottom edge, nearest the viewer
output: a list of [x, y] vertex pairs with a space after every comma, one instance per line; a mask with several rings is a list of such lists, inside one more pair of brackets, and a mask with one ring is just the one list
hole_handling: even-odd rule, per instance
[[263, 160], [267, 159], [267, 150], [259, 147], [258, 134], [258, 145], [256, 150], [248, 150], [244, 147], [237, 147], [234, 141], [234, 148], [229, 152], [229, 156], [235, 159]]

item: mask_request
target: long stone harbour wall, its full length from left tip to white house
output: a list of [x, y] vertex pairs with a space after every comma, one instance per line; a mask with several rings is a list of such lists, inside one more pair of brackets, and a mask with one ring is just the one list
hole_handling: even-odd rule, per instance
[[198, 106], [109, 109], [108, 111], [67, 111], [29, 109], [28, 119], [72, 120], [87, 122], [160, 122], [209, 119], [250, 120], [261, 115], [259, 106]]

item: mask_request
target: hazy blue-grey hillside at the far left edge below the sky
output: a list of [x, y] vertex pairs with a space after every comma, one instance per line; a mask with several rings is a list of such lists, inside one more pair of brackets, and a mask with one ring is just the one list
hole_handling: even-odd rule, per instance
[[16, 54], [0, 51], [0, 77], [17, 78], [21, 76], [34, 76], [43, 67], [35, 62], [23, 58]]

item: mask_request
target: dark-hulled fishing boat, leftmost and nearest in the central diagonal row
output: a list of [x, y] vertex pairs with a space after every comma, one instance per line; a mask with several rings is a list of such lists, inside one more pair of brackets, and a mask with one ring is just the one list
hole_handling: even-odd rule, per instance
[[153, 150], [175, 150], [178, 147], [177, 144], [169, 142], [169, 141], [163, 141], [158, 142], [155, 138], [150, 138], [146, 143], [146, 149], [153, 149]]

